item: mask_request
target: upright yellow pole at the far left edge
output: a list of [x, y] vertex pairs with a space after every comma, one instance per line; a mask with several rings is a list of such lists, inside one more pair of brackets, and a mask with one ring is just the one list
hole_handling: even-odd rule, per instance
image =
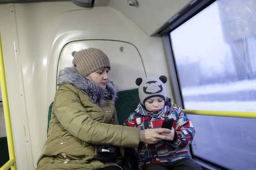
[[6, 124], [6, 135], [7, 135], [7, 143], [8, 143], [9, 159], [10, 159], [6, 164], [4, 164], [0, 168], [0, 170], [8, 170], [10, 167], [11, 167], [11, 170], [16, 170], [15, 152], [14, 152], [14, 145], [13, 145], [13, 138], [12, 138], [12, 125], [11, 125], [9, 102], [8, 102], [8, 95], [7, 95], [7, 88], [6, 88], [6, 77], [5, 77], [4, 63], [3, 63], [1, 34], [0, 34], [0, 84], [1, 84], [1, 91], [2, 91], [3, 113], [4, 113], [5, 124]]

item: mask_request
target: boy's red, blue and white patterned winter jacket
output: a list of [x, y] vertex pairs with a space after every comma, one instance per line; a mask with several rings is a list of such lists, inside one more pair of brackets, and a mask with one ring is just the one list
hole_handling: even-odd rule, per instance
[[[169, 98], [168, 98], [169, 99]], [[187, 146], [192, 142], [195, 129], [191, 121], [184, 115], [179, 107], [172, 107], [171, 99], [170, 105], [166, 105], [162, 111], [162, 116], [158, 118], [152, 116], [141, 103], [137, 106], [134, 113], [125, 120], [124, 125], [131, 127], [140, 127], [141, 130], [147, 128], [160, 128], [163, 124], [164, 117], [173, 118], [172, 127], [175, 129], [174, 141], [160, 141], [156, 144], [146, 144], [140, 142], [137, 157], [140, 170], [143, 169], [147, 163], [169, 163], [183, 158], [191, 158]], [[151, 114], [151, 116], [148, 116]]]

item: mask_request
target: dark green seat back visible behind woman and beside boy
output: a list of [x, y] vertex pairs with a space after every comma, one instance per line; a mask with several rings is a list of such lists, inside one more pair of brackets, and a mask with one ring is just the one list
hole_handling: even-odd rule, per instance
[[[117, 92], [118, 99], [116, 100], [116, 114], [119, 125], [123, 125], [125, 119], [135, 111], [140, 102], [138, 89], [119, 91]], [[53, 102], [49, 105], [47, 133], [49, 129], [49, 122], [51, 119]]]

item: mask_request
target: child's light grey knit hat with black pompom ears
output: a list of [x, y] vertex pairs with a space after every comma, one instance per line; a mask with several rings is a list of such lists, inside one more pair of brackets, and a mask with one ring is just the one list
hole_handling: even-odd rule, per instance
[[160, 76], [159, 79], [156, 77], [137, 78], [136, 85], [139, 86], [140, 102], [145, 105], [147, 99], [156, 96], [162, 97], [166, 102], [166, 88], [164, 86], [166, 82], [166, 76]]

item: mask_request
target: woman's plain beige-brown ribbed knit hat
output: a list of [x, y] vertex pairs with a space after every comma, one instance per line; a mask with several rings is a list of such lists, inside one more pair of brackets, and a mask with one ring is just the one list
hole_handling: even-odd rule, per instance
[[78, 73], [84, 77], [100, 68], [110, 68], [108, 56], [97, 48], [78, 51], [74, 56], [73, 65], [75, 65]]

